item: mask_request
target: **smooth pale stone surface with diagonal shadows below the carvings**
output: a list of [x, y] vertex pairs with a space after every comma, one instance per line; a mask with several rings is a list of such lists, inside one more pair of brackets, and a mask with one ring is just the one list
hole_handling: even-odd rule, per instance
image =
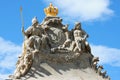
[[22, 77], [23, 80], [109, 80], [99, 76], [92, 68], [80, 68], [78, 64], [35, 64]]

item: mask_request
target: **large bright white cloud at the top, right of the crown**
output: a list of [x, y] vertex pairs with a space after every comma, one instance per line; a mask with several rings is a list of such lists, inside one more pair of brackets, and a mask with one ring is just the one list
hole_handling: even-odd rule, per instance
[[[59, 14], [69, 21], [90, 21], [111, 16], [110, 0], [46, 0], [59, 8]], [[65, 20], [64, 19], [64, 20]]]

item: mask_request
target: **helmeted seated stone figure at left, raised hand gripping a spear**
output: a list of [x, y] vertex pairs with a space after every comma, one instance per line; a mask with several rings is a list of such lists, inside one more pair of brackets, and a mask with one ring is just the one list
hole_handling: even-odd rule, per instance
[[25, 35], [24, 47], [27, 49], [37, 52], [40, 50], [42, 32], [38, 27], [38, 20], [36, 17], [32, 19], [32, 26], [30, 26], [26, 31], [22, 29]]

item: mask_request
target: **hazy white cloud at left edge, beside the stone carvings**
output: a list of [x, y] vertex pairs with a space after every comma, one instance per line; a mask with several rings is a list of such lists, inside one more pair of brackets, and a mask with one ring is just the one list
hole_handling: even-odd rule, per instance
[[0, 78], [4, 78], [15, 68], [21, 46], [0, 37]]

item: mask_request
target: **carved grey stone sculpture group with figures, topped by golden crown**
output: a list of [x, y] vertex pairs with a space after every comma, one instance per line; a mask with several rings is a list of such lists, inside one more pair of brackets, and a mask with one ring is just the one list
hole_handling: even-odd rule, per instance
[[54, 9], [52, 4], [45, 9], [48, 16], [42, 23], [34, 17], [30, 27], [26, 30], [22, 28], [25, 37], [23, 51], [18, 57], [14, 74], [9, 77], [21, 78], [27, 74], [33, 62], [41, 63], [46, 60], [53, 63], [76, 63], [76, 61], [82, 63], [83, 60], [82, 67], [92, 67], [103, 78], [109, 78], [106, 71], [102, 72], [103, 67], [97, 66], [99, 58], [91, 54], [90, 45], [87, 42], [88, 34], [82, 29], [81, 23], [76, 22], [73, 29], [68, 30], [69, 25], [63, 25], [62, 19], [56, 16], [57, 8], [55, 8], [57, 13], [50, 13], [49, 9]]

